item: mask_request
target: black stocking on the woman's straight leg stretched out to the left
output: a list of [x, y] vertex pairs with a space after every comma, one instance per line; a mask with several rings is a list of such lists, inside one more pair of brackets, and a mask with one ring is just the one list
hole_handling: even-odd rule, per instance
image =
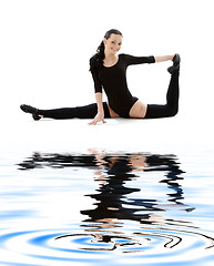
[[[103, 102], [104, 117], [109, 119], [110, 112], [106, 102]], [[38, 115], [43, 117], [65, 120], [65, 119], [93, 119], [98, 113], [96, 103], [92, 103], [85, 106], [78, 108], [63, 108], [52, 110], [38, 110]]]

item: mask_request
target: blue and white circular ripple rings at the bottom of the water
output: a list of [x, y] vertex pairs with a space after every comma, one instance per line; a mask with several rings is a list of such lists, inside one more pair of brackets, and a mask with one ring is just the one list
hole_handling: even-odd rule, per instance
[[10, 252], [28, 257], [26, 260], [30, 263], [29, 265], [33, 259], [38, 259], [37, 265], [52, 260], [89, 264], [99, 262], [103, 256], [109, 256], [110, 252], [115, 256], [115, 250], [126, 254], [126, 259], [129, 259], [128, 255], [131, 256], [130, 258], [134, 255], [135, 258], [143, 256], [144, 259], [150, 258], [157, 262], [159, 258], [176, 259], [180, 255], [188, 254], [188, 252], [197, 252], [195, 257], [200, 257], [198, 252], [214, 246], [214, 239], [205, 234], [164, 227], [141, 227], [139, 232], [130, 234], [110, 231], [77, 232], [74, 234], [67, 232], [58, 229], [13, 232], [1, 235], [0, 245], [1, 249], [7, 247]]

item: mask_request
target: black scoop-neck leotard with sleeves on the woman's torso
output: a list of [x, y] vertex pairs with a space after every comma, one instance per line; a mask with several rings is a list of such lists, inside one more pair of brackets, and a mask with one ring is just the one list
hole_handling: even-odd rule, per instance
[[126, 68], [131, 64], [154, 63], [154, 57], [133, 57], [119, 54], [118, 62], [112, 66], [91, 70], [95, 92], [106, 93], [110, 108], [121, 117], [130, 117], [129, 113], [137, 98], [133, 98], [126, 82]]

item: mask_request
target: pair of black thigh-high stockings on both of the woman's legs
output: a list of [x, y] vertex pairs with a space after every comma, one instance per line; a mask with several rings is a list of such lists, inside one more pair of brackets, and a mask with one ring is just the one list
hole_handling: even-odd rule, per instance
[[[106, 102], [103, 103], [104, 117], [109, 119], [110, 112]], [[172, 74], [167, 94], [166, 104], [147, 104], [147, 111], [144, 119], [161, 119], [174, 116], [179, 111], [179, 71]], [[98, 113], [96, 103], [78, 108], [64, 108], [53, 110], [38, 110], [39, 115], [44, 117], [64, 120], [64, 119], [93, 119]]]

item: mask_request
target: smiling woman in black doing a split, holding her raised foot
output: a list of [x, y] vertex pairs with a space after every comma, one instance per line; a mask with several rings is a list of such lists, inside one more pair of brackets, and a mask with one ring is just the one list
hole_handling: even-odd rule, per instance
[[[51, 119], [93, 119], [90, 124], [105, 123], [104, 119], [159, 119], [174, 116], [179, 111], [179, 73], [180, 55], [164, 57], [132, 57], [118, 54], [122, 45], [122, 33], [112, 29], [104, 35], [96, 53], [90, 59], [90, 71], [94, 81], [96, 103], [86, 106], [39, 110], [22, 104], [20, 108], [26, 113], [31, 113], [34, 120], [41, 117]], [[126, 84], [126, 68], [131, 64], [155, 63], [172, 60], [173, 65], [167, 70], [172, 74], [166, 104], [145, 104], [137, 98], [132, 96]], [[108, 103], [102, 102], [102, 88], [104, 89]]]

